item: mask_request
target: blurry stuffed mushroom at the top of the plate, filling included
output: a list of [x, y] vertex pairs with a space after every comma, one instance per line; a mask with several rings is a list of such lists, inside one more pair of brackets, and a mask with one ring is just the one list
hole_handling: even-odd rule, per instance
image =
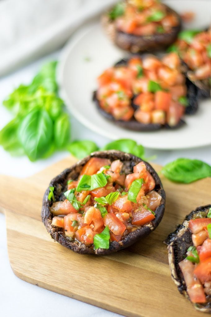
[[157, 51], [171, 45], [181, 29], [180, 16], [159, 1], [129, 0], [117, 3], [102, 16], [109, 38], [131, 53]]

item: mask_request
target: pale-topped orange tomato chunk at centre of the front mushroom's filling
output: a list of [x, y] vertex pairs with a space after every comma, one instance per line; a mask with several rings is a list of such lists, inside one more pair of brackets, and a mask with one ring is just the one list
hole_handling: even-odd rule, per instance
[[85, 213], [84, 223], [89, 224], [94, 231], [100, 230], [102, 226], [104, 226], [100, 210], [95, 207], [90, 207]]

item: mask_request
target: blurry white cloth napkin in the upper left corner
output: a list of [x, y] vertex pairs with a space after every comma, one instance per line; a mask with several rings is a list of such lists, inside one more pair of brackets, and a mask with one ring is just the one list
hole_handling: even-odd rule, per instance
[[116, 0], [0, 0], [0, 76], [61, 47]]

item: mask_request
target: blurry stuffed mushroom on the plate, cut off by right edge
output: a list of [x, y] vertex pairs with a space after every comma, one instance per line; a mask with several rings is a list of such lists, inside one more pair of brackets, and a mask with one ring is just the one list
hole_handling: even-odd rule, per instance
[[198, 87], [198, 97], [210, 97], [211, 89], [211, 29], [184, 30], [168, 49], [183, 61], [183, 73]]

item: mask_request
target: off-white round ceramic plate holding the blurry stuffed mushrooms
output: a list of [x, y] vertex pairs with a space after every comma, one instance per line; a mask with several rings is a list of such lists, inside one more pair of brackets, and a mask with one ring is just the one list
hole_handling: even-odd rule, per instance
[[[193, 11], [194, 23], [189, 28], [202, 28], [210, 24], [211, 1], [165, 1], [177, 12]], [[127, 53], [113, 45], [103, 33], [99, 20], [79, 29], [67, 44], [60, 60], [58, 80], [61, 96], [71, 113], [85, 126], [110, 139], [131, 138], [143, 146], [154, 149], [186, 149], [211, 144], [211, 100], [200, 102], [196, 115], [186, 116], [187, 125], [177, 130], [134, 132], [105, 120], [96, 110], [92, 92], [96, 90], [96, 77]]]

